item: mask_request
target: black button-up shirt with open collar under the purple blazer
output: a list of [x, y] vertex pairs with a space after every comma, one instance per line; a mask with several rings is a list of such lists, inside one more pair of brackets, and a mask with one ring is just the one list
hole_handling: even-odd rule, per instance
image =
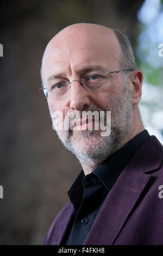
[[84, 175], [83, 170], [79, 173], [68, 190], [68, 197], [74, 207], [74, 216], [67, 229], [65, 245], [83, 245], [106, 196], [126, 164], [147, 138], [149, 138], [149, 133], [144, 130], [90, 174]]

